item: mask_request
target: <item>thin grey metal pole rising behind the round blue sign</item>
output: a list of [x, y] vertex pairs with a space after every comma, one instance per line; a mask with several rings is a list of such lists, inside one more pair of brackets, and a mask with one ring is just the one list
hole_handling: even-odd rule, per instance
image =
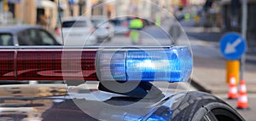
[[[247, 0], [242, 0], [242, 23], [241, 23], [241, 35], [247, 40]], [[240, 81], [244, 79], [246, 63], [246, 54], [241, 56], [241, 67], [240, 67]]]

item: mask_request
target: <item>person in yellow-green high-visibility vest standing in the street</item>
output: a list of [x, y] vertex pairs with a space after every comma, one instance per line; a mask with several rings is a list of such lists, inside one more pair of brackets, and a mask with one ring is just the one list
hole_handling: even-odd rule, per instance
[[141, 41], [139, 31], [143, 29], [143, 20], [140, 20], [138, 18], [131, 20], [130, 28], [131, 43], [138, 44]]

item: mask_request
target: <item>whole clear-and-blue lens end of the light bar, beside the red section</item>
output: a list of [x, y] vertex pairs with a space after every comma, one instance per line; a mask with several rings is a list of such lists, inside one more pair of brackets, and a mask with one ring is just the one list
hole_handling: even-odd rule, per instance
[[101, 80], [184, 82], [193, 65], [187, 47], [102, 50], [99, 54]]

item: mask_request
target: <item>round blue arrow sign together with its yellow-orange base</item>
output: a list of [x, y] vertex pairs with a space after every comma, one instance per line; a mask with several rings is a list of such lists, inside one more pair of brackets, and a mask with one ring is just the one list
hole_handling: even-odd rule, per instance
[[233, 74], [236, 77], [236, 83], [238, 83], [239, 72], [240, 72], [240, 63], [239, 59], [242, 55], [244, 55], [247, 44], [243, 37], [236, 32], [230, 32], [224, 35], [221, 38], [220, 44], [220, 51], [222, 55], [228, 60], [227, 61], [227, 75], [226, 75], [226, 82], [229, 83], [230, 75]]

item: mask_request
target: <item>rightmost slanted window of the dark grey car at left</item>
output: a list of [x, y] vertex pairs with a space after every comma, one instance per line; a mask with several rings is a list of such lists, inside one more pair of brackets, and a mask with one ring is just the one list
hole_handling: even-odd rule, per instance
[[48, 32], [43, 30], [39, 30], [38, 32], [44, 45], [55, 45], [55, 38], [51, 37]]

